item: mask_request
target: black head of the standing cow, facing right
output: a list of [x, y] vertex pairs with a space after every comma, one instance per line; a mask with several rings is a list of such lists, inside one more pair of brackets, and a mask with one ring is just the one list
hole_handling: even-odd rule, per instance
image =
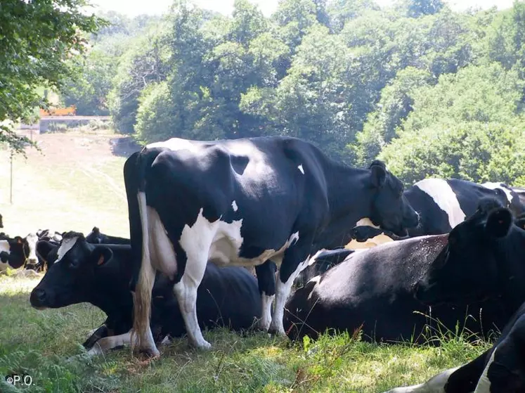
[[406, 228], [419, 224], [419, 214], [403, 195], [403, 183], [387, 171], [380, 160], [374, 160], [369, 169], [369, 184], [374, 191], [370, 215], [372, 224], [397, 236], [406, 236]]

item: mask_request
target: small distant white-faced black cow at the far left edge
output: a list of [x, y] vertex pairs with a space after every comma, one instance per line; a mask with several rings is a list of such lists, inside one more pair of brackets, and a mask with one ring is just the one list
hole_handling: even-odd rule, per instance
[[19, 269], [22, 266], [38, 262], [37, 235], [29, 233], [25, 238], [15, 236], [10, 238], [6, 234], [0, 236], [0, 271]]

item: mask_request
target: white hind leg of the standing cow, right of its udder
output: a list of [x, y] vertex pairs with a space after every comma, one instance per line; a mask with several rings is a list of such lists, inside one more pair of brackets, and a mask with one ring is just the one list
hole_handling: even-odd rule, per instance
[[200, 349], [212, 348], [212, 344], [209, 344], [202, 337], [202, 331], [197, 321], [197, 288], [199, 288], [200, 281], [202, 281], [204, 276], [206, 264], [207, 253], [188, 254], [186, 269], [181, 277], [181, 281], [173, 287], [186, 325], [188, 339], [193, 346]]

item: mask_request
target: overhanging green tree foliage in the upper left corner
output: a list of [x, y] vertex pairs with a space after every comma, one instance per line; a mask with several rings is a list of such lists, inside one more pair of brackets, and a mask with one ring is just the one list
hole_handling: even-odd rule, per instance
[[84, 15], [84, 0], [2, 0], [0, 4], [0, 142], [23, 152], [27, 138], [6, 121], [30, 122], [34, 107], [45, 105], [37, 88], [59, 89], [72, 74], [67, 59], [86, 51], [84, 34], [105, 23]]

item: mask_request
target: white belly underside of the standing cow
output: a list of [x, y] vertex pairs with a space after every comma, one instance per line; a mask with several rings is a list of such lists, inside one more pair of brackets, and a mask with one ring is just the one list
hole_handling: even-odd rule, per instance
[[210, 262], [219, 266], [227, 264], [235, 266], [257, 266], [264, 264], [268, 259], [272, 259], [280, 265], [285, 250], [299, 238], [299, 233], [296, 232], [278, 249], [264, 250], [254, 258], [240, 257], [240, 247], [244, 240], [240, 233], [241, 226], [242, 219], [234, 220], [231, 223], [220, 221], [219, 228], [212, 241], [212, 246], [209, 249], [208, 259]]

